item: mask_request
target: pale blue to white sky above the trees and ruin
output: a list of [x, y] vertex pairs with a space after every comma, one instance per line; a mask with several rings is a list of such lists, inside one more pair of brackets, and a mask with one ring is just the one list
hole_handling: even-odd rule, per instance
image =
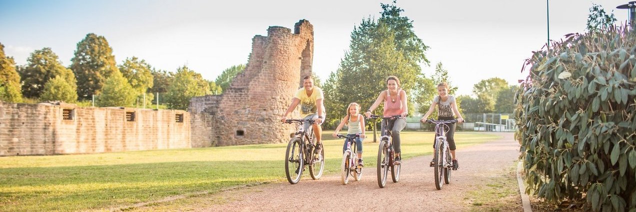
[[[214, 80], [227, 67], [247, 62], [251, 39], [272, 25], [314, 25], [314, 71], [325, 80], [349, 49], [350, 33], [363, 18], [379, 17], [391, 1], [5, 1], [0, 0], [0, 43], [17, 64], [50, 47], [64, 66], [88, 33], [106, 37], [118, 64], [139, 57], [167, 71], [187, 65]], [[550, 39], [584, 32], [592, 3], [612, 10], [618, 22], [628, 1], [550, 1]], [[480, 80], [515, 84], [523, 60], [546, 43], [546, 1], [398, 1], [425, 45], [430, 75], [438, 62], [458, 94]]]

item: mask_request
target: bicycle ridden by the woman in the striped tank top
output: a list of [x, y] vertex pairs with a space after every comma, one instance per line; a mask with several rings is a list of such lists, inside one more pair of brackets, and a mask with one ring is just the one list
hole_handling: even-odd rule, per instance
[[392, 125], [389, 125], [391, 119], [401, 117], [395, 115], [392, 117], [380, 117], [378, 115], [371, 114], [371, 118], [382, 118], [382, 122], [385, 122], [384, 136], [380, 138], [380, 145], [378, 146], [378, 186], [384, 188], [387, 185], [387, 176], [389, 175], [389, 169], [391, 169], [391, 178], [394, 183], [399, 181], [399, 170], [401, 164], [394, 162], [395, 151], [393, 150], [393, 142], [391, 137]]

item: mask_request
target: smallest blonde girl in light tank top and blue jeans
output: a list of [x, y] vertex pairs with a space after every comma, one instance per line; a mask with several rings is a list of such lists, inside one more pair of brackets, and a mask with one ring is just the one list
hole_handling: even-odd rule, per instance
[[[358, 166], [364, 166], [362, 161], [362, 140], [366, 138], [364, 135], [364, 117], [360, 115], [360, 105], [356, 102], [351, 102], [351, 104], [347, 107], [347, 115], [342, 119], [340, 125], [336, 127], [336, 131], [334, 131], [332, 135], [333, 138], [338, 138], [338, 131], [340, 131], [344, 125], [349, 125], [347, 136], [360, 134], [360, 138], [356, 138], [356, 153], [358, 155]], [[342, 146], [342, 152], [344, 153], [346, 150], [347, 139], [345, 139], [345, 144]]]

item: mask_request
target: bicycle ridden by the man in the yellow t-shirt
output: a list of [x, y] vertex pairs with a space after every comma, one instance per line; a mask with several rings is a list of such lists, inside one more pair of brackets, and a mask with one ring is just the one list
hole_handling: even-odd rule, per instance
[[289, 140], [287, 152], [285, 153], [285, 174], [287, 175], [287, 181], [291, 184], [296, 184], [300, 181], [300, 176], [302, 176], [306, 166], [309, 167], [309, 174], [312, 179], [318, 180], [322, 176], [324, 148], [321, 148], [321, 152], [314, 154], [314, 149], [317, 147], [314, 130], [312, 127], [303, 129], [304, 123], [312, 125], [314, 122], [315, 120], [313, 119], [287, 119], [285, 121], [287, 124], [296, 123], [296, 129], [298, 129], [294, 138]]

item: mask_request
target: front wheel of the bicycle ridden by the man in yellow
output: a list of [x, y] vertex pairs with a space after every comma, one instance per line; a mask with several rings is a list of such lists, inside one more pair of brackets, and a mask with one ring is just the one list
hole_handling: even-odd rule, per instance
[[298, 183], [300, 176], [303, 174], [303, 149], [300, 142], [299, 138], [289, 140], [287, 152], [285, 153], [285, 174], [287, 181], [291, 184]]

